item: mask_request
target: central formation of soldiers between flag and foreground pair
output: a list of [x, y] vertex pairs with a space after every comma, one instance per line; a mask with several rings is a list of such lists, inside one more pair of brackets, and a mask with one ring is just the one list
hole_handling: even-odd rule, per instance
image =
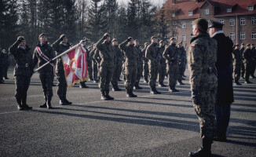
[[114, 99], [109, 96], [110, 82], [113, 91], [122, 90], [118, 86], [122, 70], [127, 97], [137, 97], [133, 94], [133, 89], [142, 89], [139, 86], [142, 75], [144, 82], [148, 82], [151, 87], [152, 94], [160, 93], [155, 82], [158, 78], [159, 86], [164, 87], [166, 75], [169, 78], [170, 92], [178, 92], [175, 88], [177, 81], [184, 85], [181, 80], [185, 72], [186, 52], [182, 43], [176, 46], [175, 38], [170, 38], [170, 46], [166, 46], [163, 40], [158, 43], [158, 39], [152, 36], [151, 44], [146, 42], [144, 49], [141, 49], [137, 39], [129, 37], [119, 44], [116, 38], [111, 42], [110, 35], [105, 34], [88, 51], [89, 77], [93, 82], [99, 82], [101, 100]]

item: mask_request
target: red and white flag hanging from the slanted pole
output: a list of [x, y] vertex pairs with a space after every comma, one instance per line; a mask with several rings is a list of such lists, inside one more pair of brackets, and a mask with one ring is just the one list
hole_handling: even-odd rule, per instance
[[62, 56], [68, 88], [74, 86], [76, 82], [88, 79], [86, 53], [86, 49], [79, 45]]

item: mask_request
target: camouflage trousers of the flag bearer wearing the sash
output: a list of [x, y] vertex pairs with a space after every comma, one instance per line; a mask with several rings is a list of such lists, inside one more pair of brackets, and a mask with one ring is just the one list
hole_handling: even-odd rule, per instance
[[53, 71], [39, 73], [44, 97], [53, 97], [53, 78]]

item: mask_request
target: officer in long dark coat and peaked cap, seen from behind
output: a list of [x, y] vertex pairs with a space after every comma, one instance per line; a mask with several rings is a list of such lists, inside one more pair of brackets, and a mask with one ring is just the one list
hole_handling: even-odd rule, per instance
[[217, 120], [216, 141], [226, 141], [226, 132], [229, 126], [230, 107], [234, 102], [232, 83], [232, 46], [233, 42], [229, 36], [222, 31], [224, 24], [210, 20], [209, 34], [217, 41], [218, 88], [216, 104], [214, 106]]

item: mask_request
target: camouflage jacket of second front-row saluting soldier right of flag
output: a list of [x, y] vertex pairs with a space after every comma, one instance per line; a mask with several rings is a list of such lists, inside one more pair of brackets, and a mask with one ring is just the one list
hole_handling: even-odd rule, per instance
[[136, 66], [137, 67], [137, 60], [138, 60], [138, 53], [137, 49], [134, 45], [127, 45], [128, 40], [122, 42], [119, 47], [124, 51], [124, 57], [126, 58], [126, 66]]

